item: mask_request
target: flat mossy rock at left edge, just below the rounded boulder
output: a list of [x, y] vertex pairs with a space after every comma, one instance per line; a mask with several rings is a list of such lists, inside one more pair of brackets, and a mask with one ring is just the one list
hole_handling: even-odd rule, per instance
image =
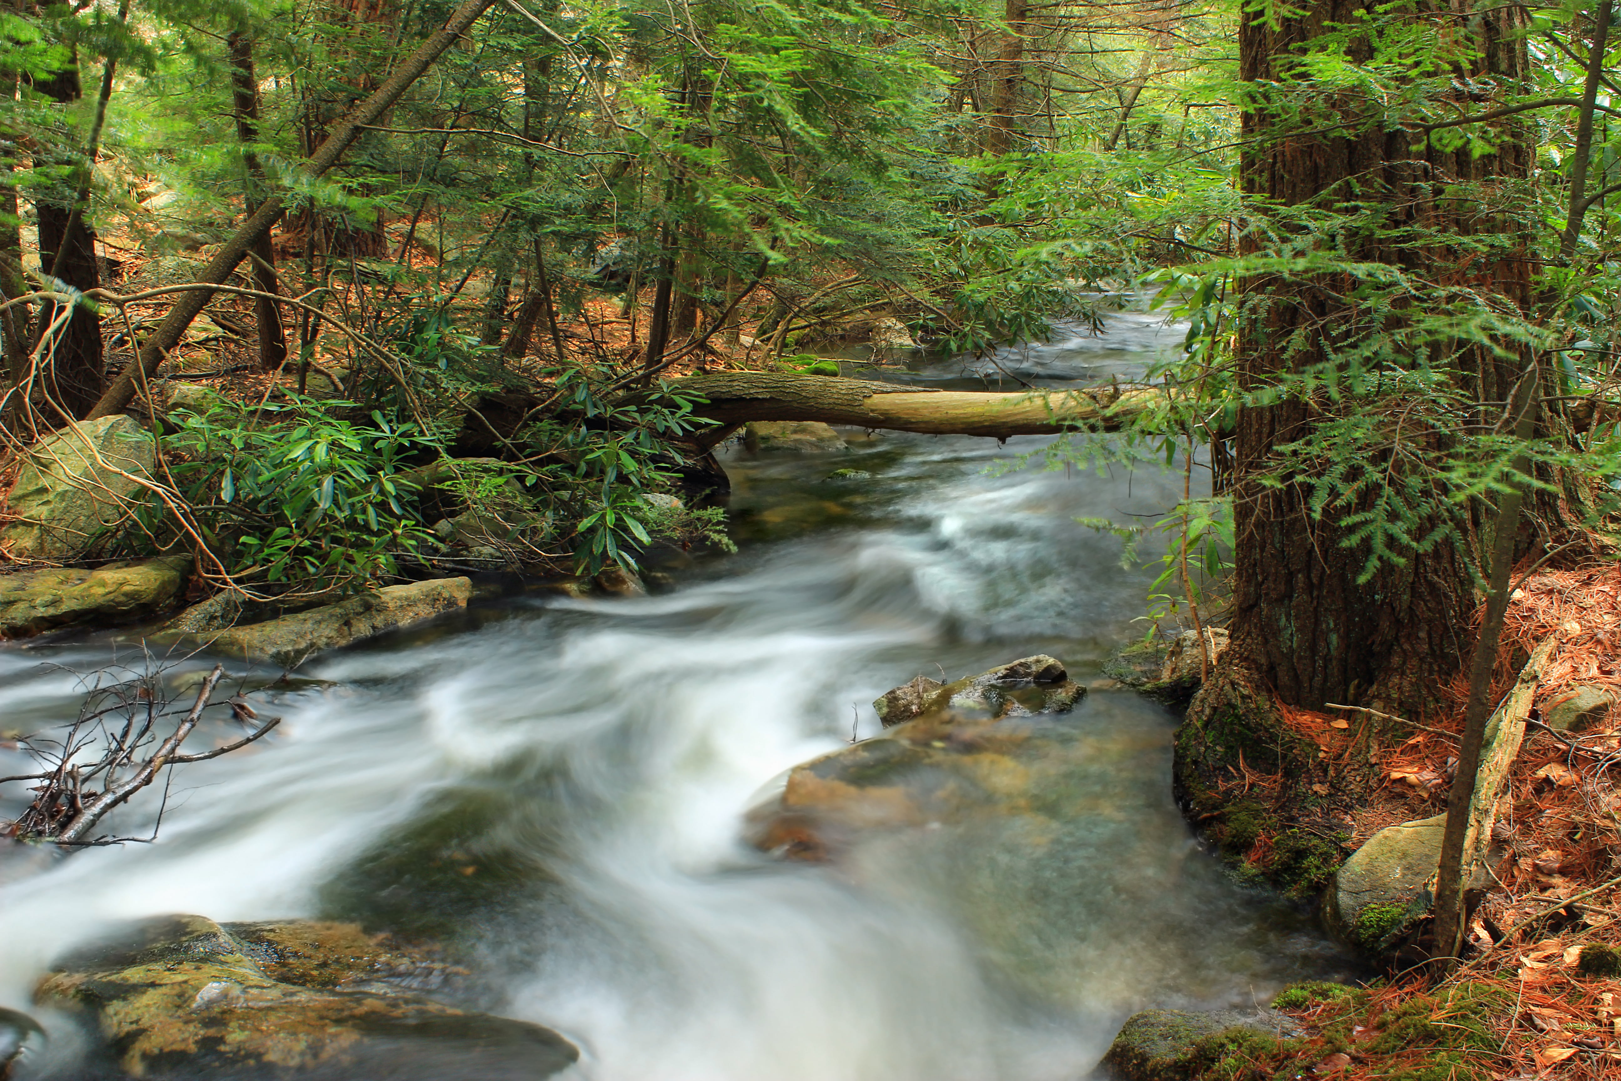
[[162, 611], [186, 583], [191, 556], [0, 575], [0, 639], [73, 624], [107, 626]]

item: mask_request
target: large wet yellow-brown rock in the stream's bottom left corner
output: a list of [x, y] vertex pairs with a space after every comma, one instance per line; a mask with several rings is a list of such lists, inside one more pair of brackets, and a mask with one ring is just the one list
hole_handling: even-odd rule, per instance
[[345, 924], [172, 916], [62, 959], [36, 997], [89, 1013], [141, 1078], [517, 1081], [579, 1058], [551, 1029], [421, 993], [449, 971]]

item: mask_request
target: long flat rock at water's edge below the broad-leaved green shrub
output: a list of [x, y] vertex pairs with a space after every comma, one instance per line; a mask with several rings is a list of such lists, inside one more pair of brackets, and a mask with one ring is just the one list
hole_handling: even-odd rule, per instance
[[334, 650], [467, 608], [472, 595], [473, 583], [468, 579], [389, 585], [337, 605], [232, 627], [219, 634], [188, 637], [220, 653], [293, 668], [311, 653]]

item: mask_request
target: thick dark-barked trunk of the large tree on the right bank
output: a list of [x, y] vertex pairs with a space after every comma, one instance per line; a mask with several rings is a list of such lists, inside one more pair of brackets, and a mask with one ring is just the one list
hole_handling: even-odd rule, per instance
[[[1284, 207], [1350, 211], [1378, 207], [1371, 227], [1347, 230], [1347, 256], [1399, 266], [1426, 280], [1470, 285], [1506, 308], [1529, 311], [1530, 259], [1470, 259], [1461, 250], [1428, 241], [1392, 240], [1397, 230], [1480, 233], [1504, 225], [1488, 217], [1469, 185], [1490, 191], [1529, 175], [1530, 152], [1514, 122], [1493, 133], [1493, 152], [1472, 156], [1470, 146], [1417, 146], [1414, 135], [1362, 123], [1350, 102], [1313, 104], [1324, 112], [1302, 122], [1287, 97], [1307, 79], [1297, 65], [1311, 39], [1341, 32], [1373, 3], [1319, 0], [1303, 13], [1269, 21], [1271, 10], [1247, 8], [1240, 23], [1242, 75], [1256, 88], [1260, 105], [1243, 117], [1250, 147], [1242, 175], [1247, 194]], [[1517, 86], [1525, 75], [1520, 8], [1499, 6], [1454, 13], [1426, 3], [1422, 16], [1452, 23], [1457, 39], [1478, 50], [1470, 84]], [[1371, 52], [1350, 45], [1352, 62]], [[1467, 99], [1459, 102], [1469, 109]], [[1324, 115], [1345, 122], [1328, 130]], [[1462, 186], [1459, 186], [1462, 185]], [[1256, 232], [1245, 233], [1245, 254], [1258, 251]], [[1379, 316], [1358, 306], [1344, 276], [1251, 276], [1240, 282], [1238, 373], [1245, 391], [1258, 391], [1294, 373], [1334, 365], [1332, 348], [1349, 335], [1379, 332]], [[1386, 316], [1388, 318], [1388, 316]], [[1480, 402], [1482, 420], [1495, 420], [1514, 373], [1520, 368], [1486, 350], [1464, 350], [1454, 378]], [[1493, 405], [1495, 404], [1495, 405]], [[1234, 519], [1237, 567], [1229, 674], [1253, 687], [1271, 687], [1289, 705], [1321, 708], [1328, 702], [1383, 703], [1391, 711], [1422, 713], [1435, 690], [1459, 669], [1467, 652], [1464, 629], [1473, 611], [1473, 579], [1464, 553], [1439, 543], [1409, 553], [1404, 566], [1386, 561], [1360, 582], [1368, 551], [1345, 546], [1347, 532], [1334, 512], [1315, 514], [1300, 483], [1263, 485], [1284, 444], [1307, 439], [1324, 410], [1324, 397], [1285, 397], [1238, 412], [1235, 433]], [[1438, 439], [1417, 433], [1415, 439]], [[1213, 687], [1213, 695], [1217, 697]], [[1195, 703], [1195, 715], [1198, 715]]]

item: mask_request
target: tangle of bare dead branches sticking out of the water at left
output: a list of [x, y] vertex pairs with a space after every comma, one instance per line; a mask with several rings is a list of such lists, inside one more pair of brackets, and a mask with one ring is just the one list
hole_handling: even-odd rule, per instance
[[[34, 801], [5, 830], [18, 840], [50, 841], [62, 846], [118, 844], [151, 841], [151, 838], [91, 838], [109, 812], [122, 807], [152, 784], [164, 770], [188, 762], [204, 762], [246, 747], [280, 723], [279, 716], [259, 720], [240, 695], [229, 702], [211, 702], [214, 689], [225, 676], [216, 664], [203, 681], [196, 702], [167, 736], [159, 736], [162, 720], [173, 716], [162, 695], [162, 673], [146, 673], [110, 687], [96, 687], [88, 695], [79, 716], [62, 739], [29, 737], [23, 744], [49, 768], [39, 773], [0, 776], [0, 784], [41, 781], [31, 791]], [[180, 754], [180, 744], [198, 726], [203, 711], [212, 705], [230, 707], [232, 716], [256, 728], [242, 739], [201, 754]], [[122, 721], [122, 724], [120, 724]], [[164, 788], [167, 801], [167, 784]], [[162, 805], [157, 812], [162, 823]]]

